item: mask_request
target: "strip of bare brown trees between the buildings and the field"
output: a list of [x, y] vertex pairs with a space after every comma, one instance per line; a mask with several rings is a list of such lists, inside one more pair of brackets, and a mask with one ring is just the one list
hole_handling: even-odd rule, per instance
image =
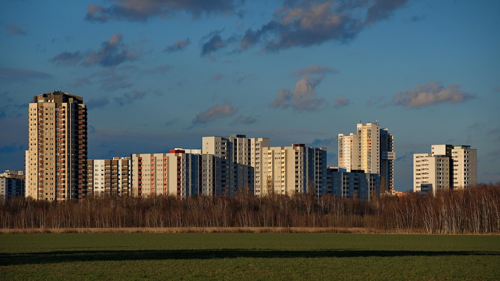
[[500, 232], [500, 182], [432, 195], [370, 201], [314, 194], [90, 197], [63, 203], [15, 197], [0, 203], [0, 228], [312, 227], [387, 233]]

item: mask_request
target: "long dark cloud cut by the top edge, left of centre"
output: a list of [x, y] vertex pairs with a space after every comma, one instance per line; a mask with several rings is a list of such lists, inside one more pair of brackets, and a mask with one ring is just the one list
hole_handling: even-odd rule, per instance
[[175, 13], [185, 12], [194, 18], [202, 15], [235, 13], [243, 0], [110, 0], [109, 7], [91, 4], [86, 19], [92, 22], [108, 20], [147, 21], [151, 18], [167, 19]]

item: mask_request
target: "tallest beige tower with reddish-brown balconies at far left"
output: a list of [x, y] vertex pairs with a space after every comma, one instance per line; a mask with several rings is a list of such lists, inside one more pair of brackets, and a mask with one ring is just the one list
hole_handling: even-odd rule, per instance
[[29, 104], [27, 196], [37, 200], [84, 199], [87, 192], [87, 108], [83, 98], [41, 94]]

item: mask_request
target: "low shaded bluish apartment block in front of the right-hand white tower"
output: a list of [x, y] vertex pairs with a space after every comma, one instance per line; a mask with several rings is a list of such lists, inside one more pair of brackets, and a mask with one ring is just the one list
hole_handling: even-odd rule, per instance
[[380, 179], [380, 174], [376, 173], [365, 173], [362, 170], [347, 172], [342, 168], [328, 167], [327, 194], [370, 200], [381, 194]]

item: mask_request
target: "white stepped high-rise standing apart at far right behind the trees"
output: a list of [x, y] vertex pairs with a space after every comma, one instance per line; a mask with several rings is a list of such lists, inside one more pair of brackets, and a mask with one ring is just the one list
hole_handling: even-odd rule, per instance
[[413, 191], [470, 187], [477, 183], [477, 151], [470, 146], [432, 145], [431, 153], [413, 155]]

